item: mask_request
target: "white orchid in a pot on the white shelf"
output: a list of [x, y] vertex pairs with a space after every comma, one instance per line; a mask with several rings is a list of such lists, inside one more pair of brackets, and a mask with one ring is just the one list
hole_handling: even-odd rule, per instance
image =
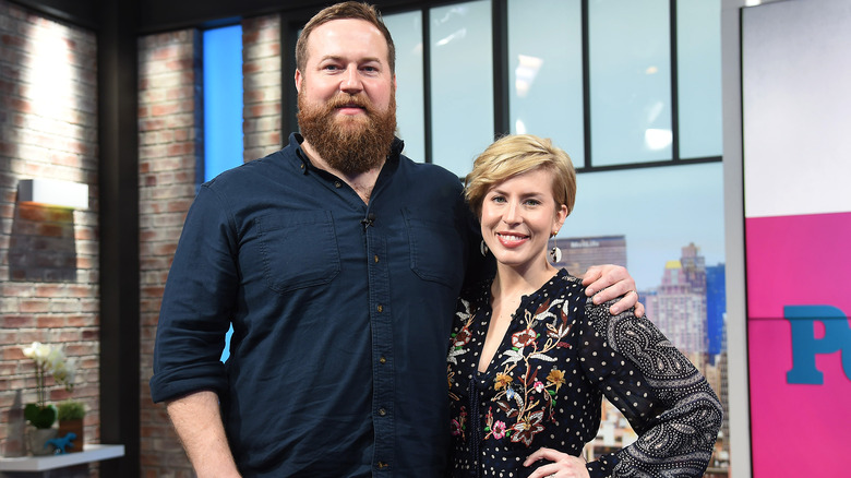
[[57, 435], [53, 423], [57, 409], [47, 403], [47, 378], [52, 375], [57, 384], [73, 390], [74, 370], [65, 360], [65, 355], [58, 347], [34, 342], [23, 349], [24, 357], [33, 360], [36, 372], [36, 403], [24, 407], [24, 418], [29, 426], [26, 431], [26, 444], [33, 455], [53, 453], [53, 446], [47, 442]]

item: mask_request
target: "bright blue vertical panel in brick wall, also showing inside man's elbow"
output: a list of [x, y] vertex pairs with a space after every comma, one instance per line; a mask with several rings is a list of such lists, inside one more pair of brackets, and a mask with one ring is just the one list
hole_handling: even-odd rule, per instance
[[[242, 164], [242, 25], [204, 32], [204, 181]], [[231, 326], [221, 361], [230, 356]]]

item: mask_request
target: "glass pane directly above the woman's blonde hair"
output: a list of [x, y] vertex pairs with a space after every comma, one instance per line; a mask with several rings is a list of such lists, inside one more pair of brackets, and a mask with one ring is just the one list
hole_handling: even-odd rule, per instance
[[582, 167], [580, 0], [508, 1], [508, 74], [512, 132], [550, 138]]

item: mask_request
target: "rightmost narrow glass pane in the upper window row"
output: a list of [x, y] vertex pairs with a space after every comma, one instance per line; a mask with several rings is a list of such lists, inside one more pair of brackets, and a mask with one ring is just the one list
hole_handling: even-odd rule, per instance
[[721, 156], [721, 1], [676, 2], [680, 157]]

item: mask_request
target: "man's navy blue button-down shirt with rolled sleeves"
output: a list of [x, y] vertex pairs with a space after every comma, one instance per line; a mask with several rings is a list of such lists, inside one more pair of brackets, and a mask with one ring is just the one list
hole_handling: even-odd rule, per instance
[[396, 140], [364, 204], [300, 142], [201, 188], [166, 285], [152, 397], [217, 392], [243, 476], [439, 476], [446, 343], [480, 240], [460, 181]]

